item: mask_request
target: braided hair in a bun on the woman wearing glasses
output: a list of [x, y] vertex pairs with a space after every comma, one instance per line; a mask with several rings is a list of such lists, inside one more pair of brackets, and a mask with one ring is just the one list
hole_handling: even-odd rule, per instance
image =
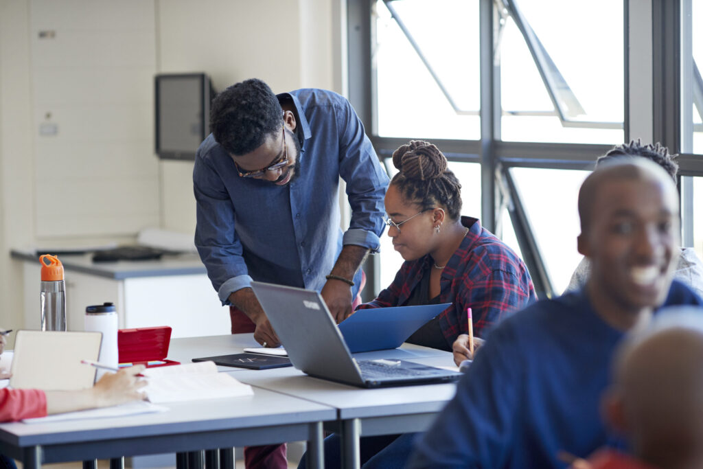
[[460, 217], [461, 184], [437, 146], [411, 140], [393, 152], [393, 165], [399, 172], [391, 184], [407, 202], [420, 205], [422, 210], [442, 207], [453, 220]]

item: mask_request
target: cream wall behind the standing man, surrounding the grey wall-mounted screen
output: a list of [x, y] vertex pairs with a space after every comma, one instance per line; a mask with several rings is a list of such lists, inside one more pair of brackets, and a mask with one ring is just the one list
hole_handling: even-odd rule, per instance
[[[142, 13], [125, 13], [122, 8], [136, 8]], [[79, 169], [84, 180], [105, 174], [101, 165], [91, 165], [91, 160], [86, 158], [89, 153], [71, 155], [71, 148], [80, 148], [85, 142], [67, 141], [54, 146], [52, 143], [58, 139], [52, 141], [39, 136], [39, 125], [46, 120], [46, 106], [60, 109], [64, 124], [85, 122], [101, 137], [109, 137], [109, 127], [114, 125], [109, 119], [98, 118], [101, 113], [114, 112], [114, 106], [110, 108], [114, 103], [109, 98], [80, 103], [81, 96], [86, 94], [67, 94], [65, 88], [52, 87], [55, 80], [60, 79], [70, 89], [71, 84], [76, 83], [72, 74], [79, 77], [88, 70], [95, 78], [99, 77], [101, 68], [109, 67], [122, 81], [148, 79], [146, 89], [133, 88], [136, 89], [135, 103], [153, 99], [153, 83], [149, 74], [145, 75], [150, 67], [154, 72], [206, 72], [218, 90], [242, 79], [259, 77], [275, 92], [303, 86], [344, 92], [340, 70], [340, 58], [344, 56], [340, 53], [345, 34], [340, 27], [343, 10], [344, 0], [135, 0], [127, 3], [0, 0], [0, 326], [22, 326], [19, 322], [24, 285], [20, 263], [9, 258], [11, 248], [73, 241], [79, 234], [83, 242], [121, 241], [129, 234], [136, 234], [135, 226], [148, 222], [183, 233], [192, 233], [195, 228], [193, 163], [160, 161], [153, 153], [134, 155], [146, 151], [145, 138], [153, 139], [153, 111], [149, 103], [143, 106], [146, 120], [144, 115], [136, 116], [139, 124], [131, 129], [131, 134], [129, 126], [121, 127], [123, 135], [127, 132], [128, 137], [133, 136], [134, 141], [139, 142], [136, 147], [129, 148], [124, 139], [122, 143], [104, 140], [100, 143], [112, 158], [122, 155], [127, 161], [140, 162], [131, 168], [144, 169], [146, 176], [142, 180], [153, 184], [154, 191], [149, 191], [146, 186], [135, 184], [138, 177], [131, 174], [129, 181], [121, 181], [110, 189], [120, 191], [127, 187], [129, 195], [134, 195], [138, 194], [136, 187], [142, 188], [143, 198], [122, 197], [117, 207], [108, 207], [131, 213], [130, 219], [136, 220], [134, 224], [125, 231], [108, 223], [105, 230], [85, 233], [85, 221], [105, 205], [99, 200], [96, 203], [94, 198], [91, 200], [89, 186], [80, 186], [74, 192], [79, 197], [71, 200], [72, 213], [81, 214], [75, 218], [75, 226], [64, 224], [60, 230], [53, 230], [49, 224], [37, 223], [41, 212], [37, 200], [42, 201], [42, 207], [51, 201], [51, 193], [38, 187], [41, 181], [41, 172], [37, 171], [39, 162], [54, 165], [51, 155], [68, 155], [65, 158], [73, 158], [70, 164]], [[82, 27], [93, 32], [83, 39], [77, 31], [81, 29], [81, 18], [90, 19]], [[115, 27], [113, 23], [121, 26]], [[100, 53], [101, 49], [96, 49], [94, 44], [85, 44], [85, 41], [108, 40], [101, 37], [95, 25], [101, 25], [105, 37], [119, 36], [124, 29], [134, 27], [138, 38], [127, 34], [129, 45], [125, 49], [108, 48], [110, 53]], [[59, 34], [60, 27], [67, 32]], [[38, 29], [54, 28], [57, 39], [70, 37], [73, 44], [37, 39]], [[120, 28], [120, 32], [115, 32]], [[48, 46], [51, 50], [46, 50]], [[80, 60], [76, 61], [76, 57]], [[111, 77], [103, 76], [107, 87]], [[120, 80], [117, 81], [119, 84]], [[83, 86], [93, 86], [87, 90], [88, 96], [103, 96], [102, 84], [98, 78], [84, 82]], [[117, 86], [114, 80], [112, 86]], [[74, 86], [73, 92], [76, 91], [81, 89]], [[53, 98], [56, 96], [60, 97], [59, 101]], [[91, 116], [87, 122], [81, 121], [85, 118], [80, 110], [82, 106]], [[52, 118], [58, 117], [52, 114]], [[62, 131], [66, 127], [58, 128]], [[148, 141], [148, 148], [153, 148], [153, 141]], [[108, 166], [112, 173], [122, 169], [119, 165]], [[115, 198], [105, 203], [114, 204]], [[60, 205], [58, 207], [60, 211]], [[143, 214], [144, 207], [153, 207], [153, 210], [148, 208], [146, 217], [139, 221], [133, 215]], [[39, 279], [37, 288], [38, 282]], [[28, 285], [28, 288], [33, 287]]]

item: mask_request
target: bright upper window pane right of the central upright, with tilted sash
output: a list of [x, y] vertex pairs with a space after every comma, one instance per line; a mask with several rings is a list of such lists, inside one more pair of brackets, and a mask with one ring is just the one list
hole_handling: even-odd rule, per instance
[[[497, 55], [501, 138], [620, 143], [624, 138], [622, 2], [514, 0], [512, 4], [522, 17], [508, 11]], [[535, 54], [543, 56], [541, 63], [525, 41], [530, 34], [523, 34], [518, 24], [534, 33], [530, 44]]]

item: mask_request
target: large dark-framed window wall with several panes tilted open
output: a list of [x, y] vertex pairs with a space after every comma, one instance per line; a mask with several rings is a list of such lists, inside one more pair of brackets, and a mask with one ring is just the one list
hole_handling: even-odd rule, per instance
[[[470, 168], [457, 170], [475, 191], [463, 213], [520, 252], [542, 295], [562, 293], [581, 260], [581, 181], [631, 138], [681, 153], [683, 238], [703, 257], [692, 210], [703, 205], [703, 0], [353, 4], [371, 25], [362, 101], [379, 155], [428, 139]], [[401, 259], [381, 257], [385, 287]]]

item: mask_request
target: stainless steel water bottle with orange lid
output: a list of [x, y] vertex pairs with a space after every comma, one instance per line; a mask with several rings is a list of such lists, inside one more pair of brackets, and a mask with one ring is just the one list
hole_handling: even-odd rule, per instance
[[41, 330], [66, 330], [66, 284], [63, 264], [49, 254], [39, 256], [41, 262]]

